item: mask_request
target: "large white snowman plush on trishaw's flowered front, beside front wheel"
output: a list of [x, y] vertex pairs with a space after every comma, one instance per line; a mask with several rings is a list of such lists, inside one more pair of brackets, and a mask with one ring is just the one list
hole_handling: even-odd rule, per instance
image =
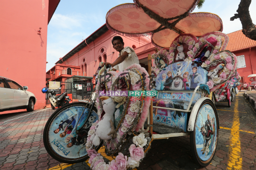
[[108, 96], [101, 96], [99, 99], [102, 99], [102, 107], [105, 111], [102, 119], [96, 126], [95, 133], [90, 138], [90, 141], [94, 146], [100, 144], [100, 139], [108, 140], [116, 138], [116, 130], [114, 127], [114, 113], [116, 110], [116, 102]]

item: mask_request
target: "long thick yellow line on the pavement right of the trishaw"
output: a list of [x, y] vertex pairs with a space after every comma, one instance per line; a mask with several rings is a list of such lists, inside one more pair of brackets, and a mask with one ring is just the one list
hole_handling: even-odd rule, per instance
[[238, 100], [235, 102], [234, 108], [234, 118], [233, 118], [233, 125], [230, 133], [230, 147], [228, 154], [228, 167], [227, 170], [232, 170], [233, 168], [236, 170], [242, 169], [242, 157], [241, 157], [241, 142], [239, 137], [239, 112], [238, 112]]

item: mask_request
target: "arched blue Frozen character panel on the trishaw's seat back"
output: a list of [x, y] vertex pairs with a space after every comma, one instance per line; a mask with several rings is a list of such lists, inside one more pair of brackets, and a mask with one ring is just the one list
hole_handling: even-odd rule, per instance
[[192, 62], [175, 62], [162, 70], [156, 78], [157, 91], [194, 90], [206, 84], [208, 72]]

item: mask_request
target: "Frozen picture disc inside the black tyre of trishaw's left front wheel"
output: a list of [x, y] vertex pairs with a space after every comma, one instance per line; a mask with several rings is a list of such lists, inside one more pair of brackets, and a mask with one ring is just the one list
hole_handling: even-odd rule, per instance
[[84, 111], [82, 106], [68, 108], [52, 122], [49, 130], [49, 141], [55, 153], [70, 159], [87, 154], [83, 146], [86, 143], [90, 126], [98, 119], [98, 115], [94, 111], [89, 117], [86, 113], [82, 114], [83, 111], [86, 112], [87, 110], [86, 108]]

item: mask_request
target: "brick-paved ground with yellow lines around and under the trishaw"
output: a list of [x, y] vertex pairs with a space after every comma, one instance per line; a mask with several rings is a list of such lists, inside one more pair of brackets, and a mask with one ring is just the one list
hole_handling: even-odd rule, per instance
[[[154, 140], [137, 170], [256, 170], [256, 113], [240, 92], [231, 108], [216, 105], [220, 129], [215, 156], [207, 167], [195, 164], [189, 136]], [[1, 170], [89, 170], [90, 164], [60, 164], [48, 155], [43, 130], [51, 109], [0, 117]], [[29, 115], [30, 114], [30, 115]], [[23, 117], [20, 117], [23, 116]], [[17, 119], [15, 119], [17, 118]], [[6, 122], [7, 121], [7, 122]], [[105, 161], [112, 160], [104, 153]]]

